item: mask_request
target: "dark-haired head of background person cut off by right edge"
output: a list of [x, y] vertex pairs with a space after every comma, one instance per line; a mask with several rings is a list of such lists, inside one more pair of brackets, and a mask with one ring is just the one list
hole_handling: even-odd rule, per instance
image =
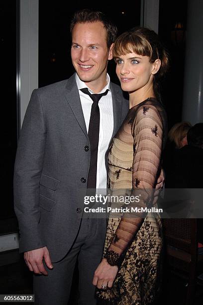
[[203, 149], [203, 123], [191, 127], [187, 134], [188, 145]]

